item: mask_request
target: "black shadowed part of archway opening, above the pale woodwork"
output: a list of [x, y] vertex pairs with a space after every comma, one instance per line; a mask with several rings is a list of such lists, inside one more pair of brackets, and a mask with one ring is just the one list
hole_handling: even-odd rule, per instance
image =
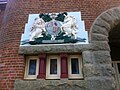
[[109, 45], [112, 60], [120, 60], [120, 23], [109, 32]]

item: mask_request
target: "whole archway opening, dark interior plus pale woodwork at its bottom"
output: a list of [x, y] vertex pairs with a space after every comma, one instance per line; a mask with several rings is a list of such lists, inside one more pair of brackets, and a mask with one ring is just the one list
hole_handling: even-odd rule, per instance
[[120, 23], [109, 32], [109, 46], [117, 90], [120, 90]]

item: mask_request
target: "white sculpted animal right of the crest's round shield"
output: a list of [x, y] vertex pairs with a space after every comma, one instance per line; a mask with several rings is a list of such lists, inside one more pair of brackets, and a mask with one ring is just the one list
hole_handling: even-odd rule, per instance
[[78, 33], [78, 25], [75, 17], [65, 15], [63, 25], [61, 26], [61, 30], [65, 33], [64, 35], [74, 36], [76, 39], [76, 34]]

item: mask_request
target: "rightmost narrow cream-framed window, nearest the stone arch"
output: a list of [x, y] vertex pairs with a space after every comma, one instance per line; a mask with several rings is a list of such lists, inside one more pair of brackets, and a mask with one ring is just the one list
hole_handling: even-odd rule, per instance
[[68, 60], [68, 78], [80, 79], [82, 75], [82, 58], [79, 55], [70, 55]]

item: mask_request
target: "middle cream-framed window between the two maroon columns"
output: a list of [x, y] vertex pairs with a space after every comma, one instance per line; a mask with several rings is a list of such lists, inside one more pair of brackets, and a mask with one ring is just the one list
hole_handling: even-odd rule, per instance
[[46, 79], [60, 79], [60, 58], [57, 55], [47, 57]]

